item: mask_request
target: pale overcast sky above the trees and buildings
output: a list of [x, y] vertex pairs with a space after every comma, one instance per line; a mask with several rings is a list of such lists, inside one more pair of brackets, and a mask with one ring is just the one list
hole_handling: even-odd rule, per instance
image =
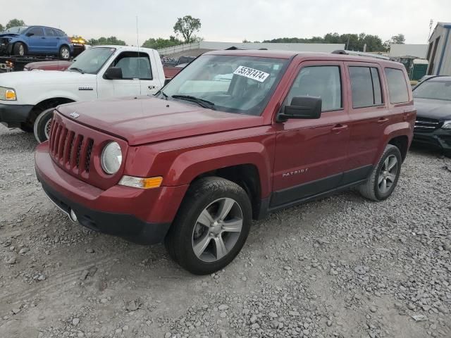
[[407, 44], [426, 44], [431, 19], [433, 27], [451, 22], [451, 0], [20, 0], [9, 8], [0, 11], [3, 25], [18, 18], [70, 36], [113, 35], [133, 45], [174, 35], [175, 21], [185, 15], [201, 20], [196, 35], [220, 42], [364, 32], [383, 41], [402, 33]]

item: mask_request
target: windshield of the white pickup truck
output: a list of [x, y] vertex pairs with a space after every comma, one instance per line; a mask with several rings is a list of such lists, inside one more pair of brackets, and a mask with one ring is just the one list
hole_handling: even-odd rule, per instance
[[116, 49], [111, 47], [87, 49], [75, 58], [68, 70], [72, 72], [97, 74], [115, 51]]

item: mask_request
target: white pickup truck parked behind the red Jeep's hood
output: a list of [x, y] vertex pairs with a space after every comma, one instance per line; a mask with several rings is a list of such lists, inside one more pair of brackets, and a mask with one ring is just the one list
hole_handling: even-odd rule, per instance
[[[0, 74], [0, 123], [49, 137], [53, 109], [74, 101], [155, 94], [163, 87], [163, 65], [154, 49], [95, 46], [68, 70]], [[124, 112], [127, 113], [127, 112]]]

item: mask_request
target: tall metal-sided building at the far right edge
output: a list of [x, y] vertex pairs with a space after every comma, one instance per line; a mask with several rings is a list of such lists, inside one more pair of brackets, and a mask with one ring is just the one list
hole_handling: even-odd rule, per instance
[[428, 75], [451, 75], [451, 23], [437, 23], [429, 38]]

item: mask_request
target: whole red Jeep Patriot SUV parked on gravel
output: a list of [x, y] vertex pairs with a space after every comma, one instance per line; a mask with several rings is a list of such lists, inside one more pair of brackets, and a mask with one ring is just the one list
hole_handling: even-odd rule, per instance
[[37, 178], [72, 220], [212, 273], [252, 218], [354, 186], [387, 199], [414, 130], [408, 83], [378, 58], [206, 53], [156, 96], [58, 106]]

